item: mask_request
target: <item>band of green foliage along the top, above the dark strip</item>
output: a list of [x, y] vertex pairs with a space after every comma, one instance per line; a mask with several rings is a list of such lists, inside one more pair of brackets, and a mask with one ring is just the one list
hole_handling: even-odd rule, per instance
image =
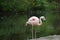
[[31, 9], [36, 6], [43, 7], [43, 10], [54, 10], [56, 8], [56, 2], [49, 3], [47, 0], [1, 0], [1, 10], [3, 11], [21, 11]]

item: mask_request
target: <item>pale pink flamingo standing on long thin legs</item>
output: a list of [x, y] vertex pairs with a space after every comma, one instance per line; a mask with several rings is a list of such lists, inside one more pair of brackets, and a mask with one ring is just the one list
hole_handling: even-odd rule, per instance
[[[26, 22], [26, 26], [27, 24], [32, 25], [32, 39], [33, 39], [33, 26], [41, 26], [42, 25], [42, 20], [46, 20], [44, 16], [41, 16], [40, 18], [36, 17], [36, 16], [32, 16], [28, 19], [28, 21]], [[35, 38], [36, 38], [36, 32], [35, 32]]]

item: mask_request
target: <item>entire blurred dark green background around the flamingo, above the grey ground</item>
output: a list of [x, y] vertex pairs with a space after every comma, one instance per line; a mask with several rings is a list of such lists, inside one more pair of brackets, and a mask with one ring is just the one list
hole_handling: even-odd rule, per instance
[[0, 0], [0, 40], [31, 38], [30, 16], [45, 16], [41, 27], [35, 26], [37, 37], [60, 35], [60, 1], [57, 0]]

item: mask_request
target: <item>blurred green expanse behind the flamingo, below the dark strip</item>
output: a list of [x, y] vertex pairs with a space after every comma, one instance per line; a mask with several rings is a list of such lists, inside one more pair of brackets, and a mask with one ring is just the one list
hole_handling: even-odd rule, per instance
[[[45, 16], [46, 22], [43, 22], [42, 26], [34, 27], [34, 29], [37, 30], [37, 37], [52, 35], [55, 32], [52, 25], [55, 16], [48, 13]], [[0, 36], [4, 38], [1, 39], [25, 40], [27, 37], [31, 38], [31, 25], [25, 26], [26, 21], [26, 15], [4, 16], [0, 21]]]

